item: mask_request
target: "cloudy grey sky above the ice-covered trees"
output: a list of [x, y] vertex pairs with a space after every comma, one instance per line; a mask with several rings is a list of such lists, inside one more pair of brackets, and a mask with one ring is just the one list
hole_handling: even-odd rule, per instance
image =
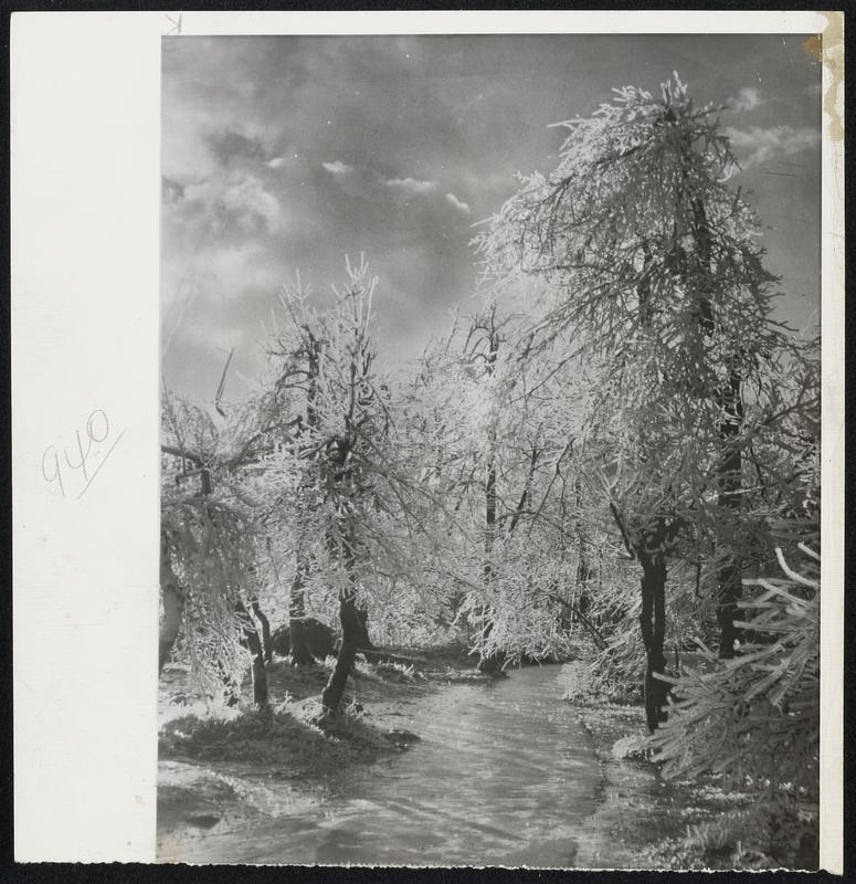
[[[658, 94], [677, 71], [728, 104], [765, 224], [782, 316], [820, 303], [821, 70], [806, 38], [166, 38], [162, 45], [161, 355], [166, 383], [210, 401], [262, 365], [284, 280], [318, 293], [364, 252], [380, 277], [384, 361], [419, 354], [474, 301], [473, 224], [549, 172], [548, 125], [588, 116], [613, 86]], [[320, 294], [319, 294], [320, 296]]]

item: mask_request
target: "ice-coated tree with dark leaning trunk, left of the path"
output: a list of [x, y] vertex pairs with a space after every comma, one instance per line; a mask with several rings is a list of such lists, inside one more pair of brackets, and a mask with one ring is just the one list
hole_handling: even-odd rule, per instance
[[[321, 701], [335, 712], [358, 651], [371, 646], [367, 611], [390, 582], [419, 587], [436, 559], [437, 495], [420, 482], [422, 450], [400, 430], [400, 403], [379, 375], [371, 336], [377, 278], [362, 260], [328, 311], [310, 307], [299, 283], [282, 297], [282, 332], [270, 348], [258, 398], [270, 428], [263, 469], [283, 560], [293, 564], [292, 623], [313, 589], [335, 599], [341, 624], [336, 666]], [[298, 612], [295, 617], [295, 612]]]

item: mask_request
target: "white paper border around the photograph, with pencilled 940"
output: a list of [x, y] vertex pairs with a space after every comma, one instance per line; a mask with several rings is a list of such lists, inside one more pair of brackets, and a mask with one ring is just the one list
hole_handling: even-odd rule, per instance
[[[12, 15], [18, 861], [155, 860], [161, 38], [820, 33], [821, 866], [842, 873], [843, 25], [839, 12], [675, 10]], [[77, 433], [108, 456], [85, 487], [60, 488], [53, 457]]]

